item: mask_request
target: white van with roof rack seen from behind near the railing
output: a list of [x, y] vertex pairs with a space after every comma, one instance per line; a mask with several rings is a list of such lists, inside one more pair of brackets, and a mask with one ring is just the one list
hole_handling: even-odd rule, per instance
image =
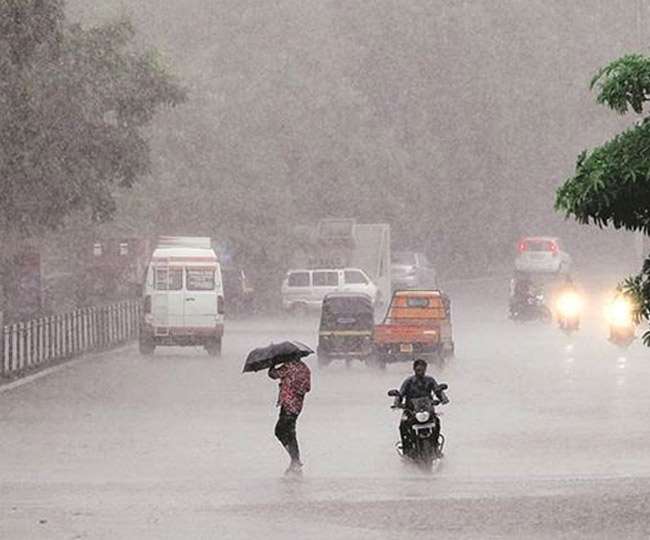
[[223, 329], [221, 267], [210, 239], [162, 238], [147, 269], [140, 352], [199, 345], [219, 356]]

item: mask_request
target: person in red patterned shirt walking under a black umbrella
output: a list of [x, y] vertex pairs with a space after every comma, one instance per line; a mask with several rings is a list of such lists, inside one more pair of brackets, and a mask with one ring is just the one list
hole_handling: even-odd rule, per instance
[[312, 353], [302, 343], [285, 341], [255, 349], [244, 364], [244, 372], [268, 368], [269, 377], [280, 381], [277, 401], [280, 416], [275, 425], [275, 436], [291, 458], [285, 474], [300, 474], [302, 471], [296, 422], [302, 412], [305, 395], [311, 390], [311, 371], [301, 358]]

